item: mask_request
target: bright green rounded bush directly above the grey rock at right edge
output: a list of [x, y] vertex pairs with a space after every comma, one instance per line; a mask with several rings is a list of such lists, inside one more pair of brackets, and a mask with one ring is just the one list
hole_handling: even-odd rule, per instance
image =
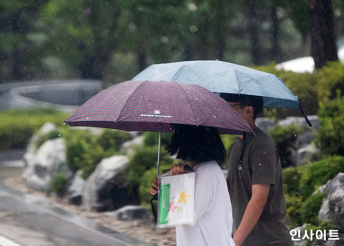
[[344, 172], [344, 157], [329, 156], [321, 161], [302, 166], [300, 194], [306, 200], [318, 187]]

